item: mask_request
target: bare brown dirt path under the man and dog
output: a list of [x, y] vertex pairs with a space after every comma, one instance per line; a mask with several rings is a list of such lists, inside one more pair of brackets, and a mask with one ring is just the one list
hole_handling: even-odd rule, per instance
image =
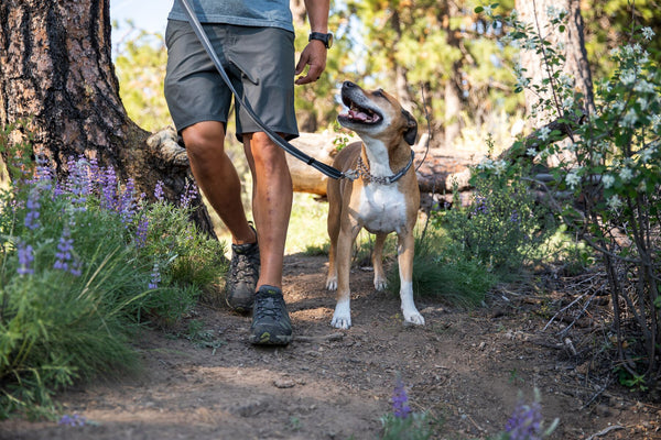
[[[199, 308], [215, 342], [144, 332], [139, 378], [96, 384], [59, 397], [84, 427], [0, 422], [0, 439], [375, 439], [398, 374], [414, 410], [440, 420], [440, 439], [484, 439], [505, 427], [520, 395], [542, 395], [553, 439], [661, 439], [661, 406], [628, 391], [598, 393], [584, 365], [556, 348], [533, 305], [470, 312], [419, 300], [424, 328], [402, 326], [399, 300], [356, 270], [354, 327], [329, 326], [325, 257], [288, 256], [285, 299], [297, 339], [284, 349], [248, 343], [250, 319]], [[585, 404], [594, 402], [585, 407]], [[603, 435], [599, 435], [603, 433]], [[598, 436], [595, 436], [598, 435]], [[594, 436], [594, 437], [590, 437]]]

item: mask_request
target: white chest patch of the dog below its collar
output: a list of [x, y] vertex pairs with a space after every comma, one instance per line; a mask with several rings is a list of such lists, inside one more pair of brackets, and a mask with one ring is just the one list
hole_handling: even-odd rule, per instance
[[372, 233], [399, 233], [407, 224], [407, 199], [397, 185], [368, 184], [360, 195], [358, 216]]

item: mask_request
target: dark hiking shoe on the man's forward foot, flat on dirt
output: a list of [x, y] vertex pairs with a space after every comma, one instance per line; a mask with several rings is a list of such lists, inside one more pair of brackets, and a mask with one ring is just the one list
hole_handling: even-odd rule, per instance
[[250, 342], [260, 345], [286, 345], [292, 340], [292, 322], [282, 290], [261, 286], [254, 295]]

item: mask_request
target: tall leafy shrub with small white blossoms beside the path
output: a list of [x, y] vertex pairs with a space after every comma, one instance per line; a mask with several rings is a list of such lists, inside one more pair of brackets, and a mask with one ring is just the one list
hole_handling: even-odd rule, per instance
[[[571, 127], [570, 140], [560, 142], [566, 134], [544, 127], [512, 151], [549, 167], [550, 206], [600, 255], [613, 298], [618, 364], [637, 383], [642, 377], [650, 385], [661, 375], [661, 73], [644, 50], [654, 32], [632, 26], [631, 41], [611, 52], [617, 68], [598, 81], [596, 112], [578, 124], [574, 116], [583, 112], [582, 97], [562, 72], [563, 55], [516, 16], [494, 15], [494, 8], [480, 9], [512, 29], [511, 41], [543, 57], [548, 76], [533, 91], [554, 98], [541, 99], [538, 109]], [[560, 11], [552, 20], [556, 30], [544, 32], [564, 32], [565, 15]], [[524, 70], [518, 73], [523, 89], [531, 81]], [[551, 156], [554, 162], [548, 161]]]

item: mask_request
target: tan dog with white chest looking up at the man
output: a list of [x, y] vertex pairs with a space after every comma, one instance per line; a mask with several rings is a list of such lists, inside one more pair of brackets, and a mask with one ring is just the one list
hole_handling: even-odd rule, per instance
[[[377, 235], [372, 264], [375, 287], [386, 287], [381, 262], [383, 242], [390, 232], [398, 235], [400, 298], [404, 321], [424, 324], [413, 304], [413, 227], [420, 207], [420, 190], [413, 169], [413, 145], [418, 123], [383, 90], [365, 91], [345, 81], [342, 100], [348, 113], [338, 122], [356, 132], [362, 142], [343, 148], [334, 166], [356, 172], [356, 180], [328, 179], [328, 235], [330, 251], [326, 287], [337, 289], [333, 327], [351, 327], [349, 272], [351, 248], [360, 229]], [[395, 180], [395, 182], [391, 182]]]

